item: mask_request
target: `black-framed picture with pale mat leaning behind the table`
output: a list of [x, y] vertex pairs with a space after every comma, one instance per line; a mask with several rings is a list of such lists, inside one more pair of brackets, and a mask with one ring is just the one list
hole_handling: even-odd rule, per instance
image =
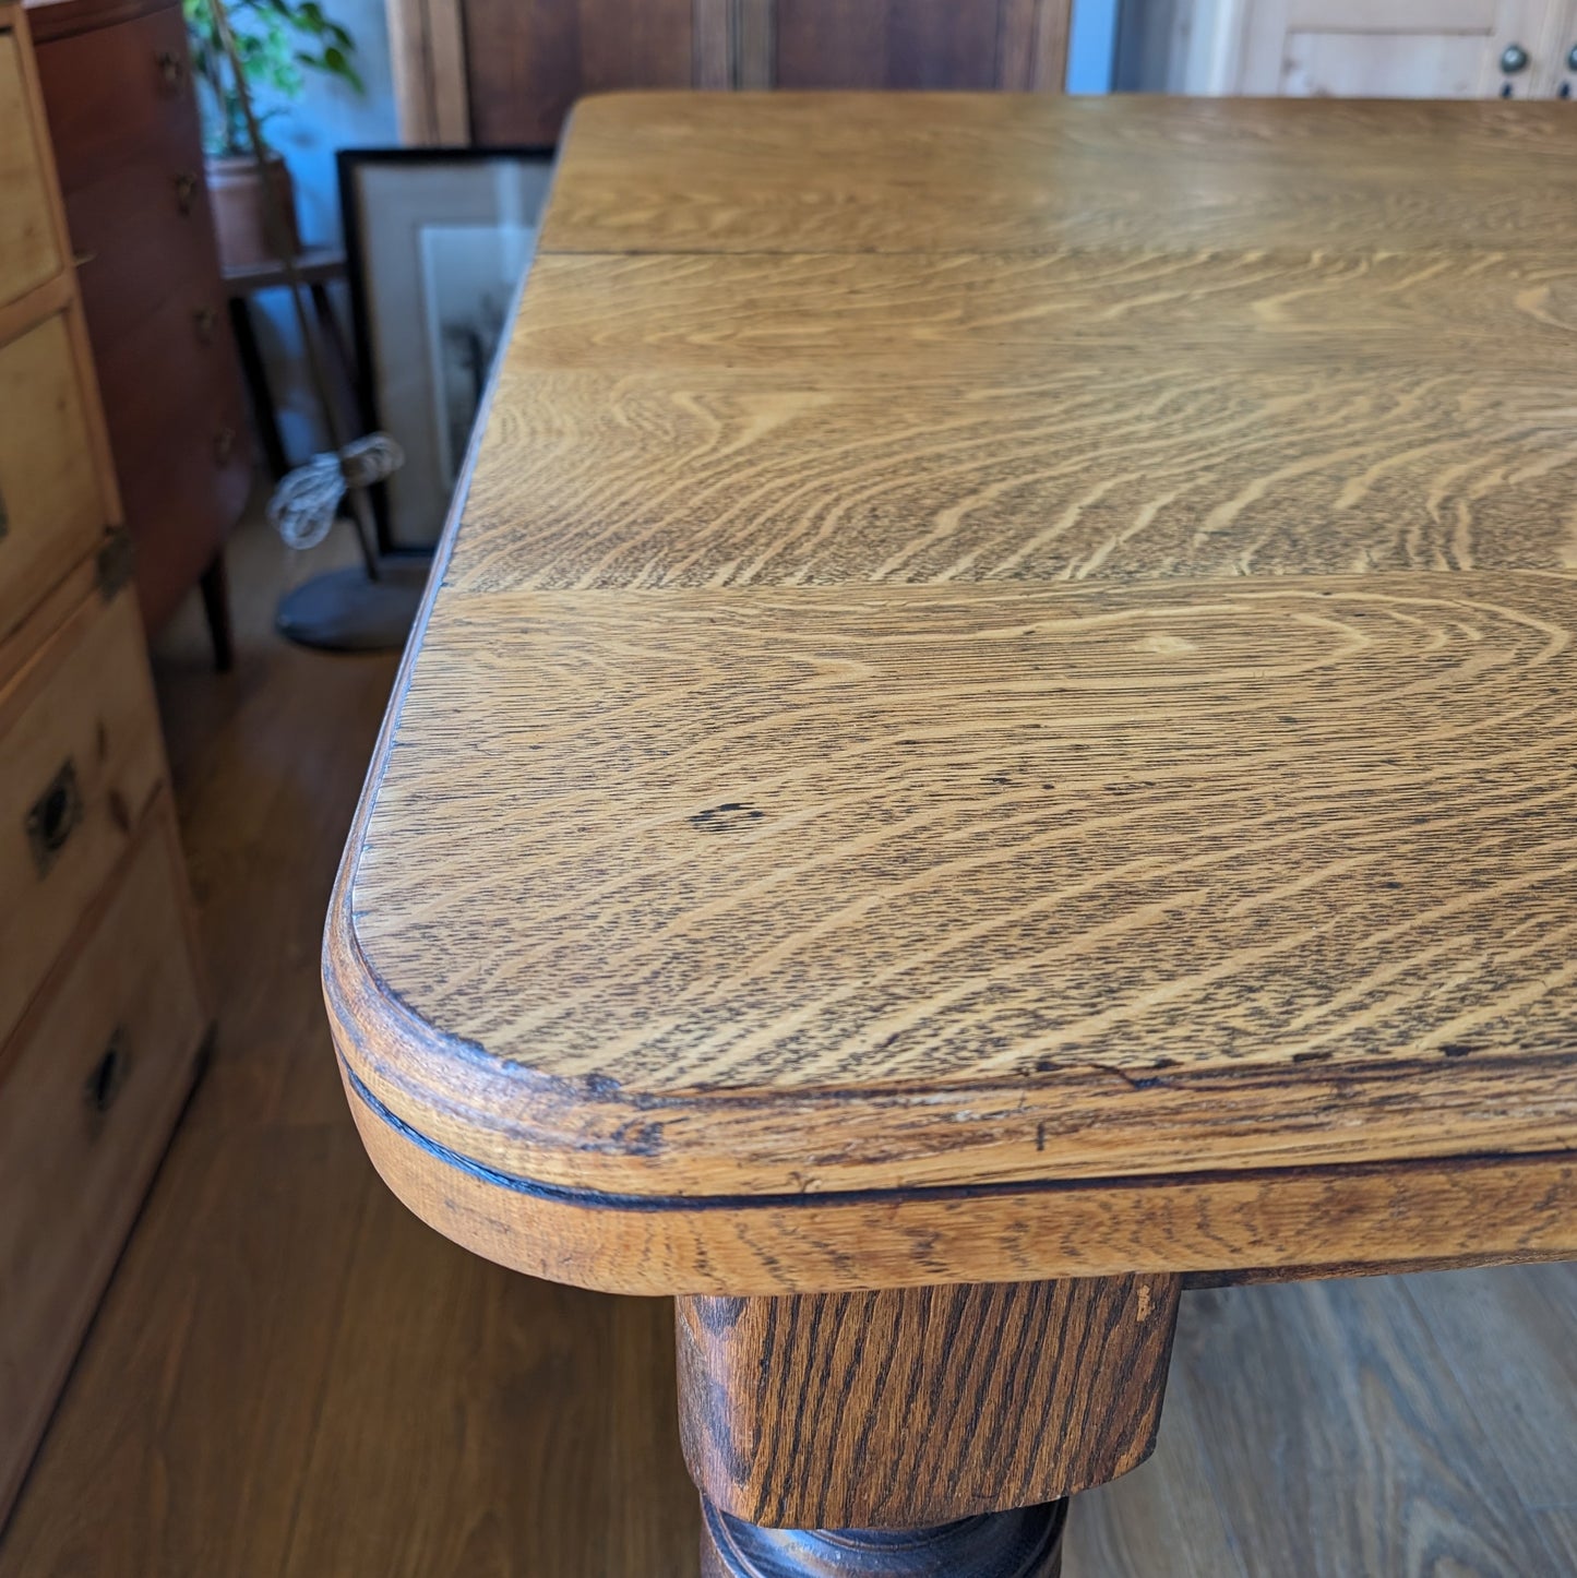
[[406, 464], [377, 489], [380, 548], [444, 525], [510, 306], [537, 248], [551, 148], [338, 155], [361, 418]]

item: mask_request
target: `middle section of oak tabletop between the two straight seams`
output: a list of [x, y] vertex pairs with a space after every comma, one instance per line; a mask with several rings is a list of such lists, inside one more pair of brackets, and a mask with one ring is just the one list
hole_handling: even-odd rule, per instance
[[1574, 333], [1568, 262], [1449, 251], [546, 256], [450, 574], [1571, 568]]

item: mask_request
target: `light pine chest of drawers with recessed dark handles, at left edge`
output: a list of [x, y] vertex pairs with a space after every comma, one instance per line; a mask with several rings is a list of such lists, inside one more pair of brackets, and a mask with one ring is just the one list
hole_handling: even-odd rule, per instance
[[0, 1518], [208, 1023], [109, 453], [27, 21], [0, 0]]

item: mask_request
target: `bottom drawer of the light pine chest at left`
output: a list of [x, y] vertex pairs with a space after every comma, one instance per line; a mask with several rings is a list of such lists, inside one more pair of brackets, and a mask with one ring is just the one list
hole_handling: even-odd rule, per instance
[[0, 1520], [191, 1086], [185, 904], [161, 795], [0, 1060]]

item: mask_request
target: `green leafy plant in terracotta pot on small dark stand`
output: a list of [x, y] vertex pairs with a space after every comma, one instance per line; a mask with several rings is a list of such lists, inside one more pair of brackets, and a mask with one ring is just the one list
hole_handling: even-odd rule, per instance
[[[338, 77], [363, 92], [352, 63], [355, 41], [325, 16], [317, 0], [229, 0], [226, 9], [259, 123], [267, 123], [302, 96], [309, 71]], [[273, 150], [268, 150], [264, 169], [257, 166], [242, 95], [208, 0], [185, 0], [185, 13], [193, 66], [202, 85], [204, 153], [219, 259], [226, 267], [273, 259], [264, 211], [265, 180], [278, 205], [286, 241], [292, 251], [300, 251], [290, 170]]]

